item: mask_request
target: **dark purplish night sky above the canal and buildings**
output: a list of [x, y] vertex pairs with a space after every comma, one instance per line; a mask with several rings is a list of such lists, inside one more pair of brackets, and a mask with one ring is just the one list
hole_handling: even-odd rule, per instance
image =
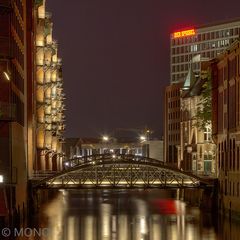
[[47, 0], [63, 59], [66, 137], [163, 133], [169, 34], [240, 17], [240, 1]]

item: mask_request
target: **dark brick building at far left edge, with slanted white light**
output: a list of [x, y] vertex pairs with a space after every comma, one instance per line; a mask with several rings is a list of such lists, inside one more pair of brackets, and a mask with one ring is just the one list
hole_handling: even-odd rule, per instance
[[0, 202], [9, 219], [26, 206], [26, 9], [25, 0], [0, 2]]

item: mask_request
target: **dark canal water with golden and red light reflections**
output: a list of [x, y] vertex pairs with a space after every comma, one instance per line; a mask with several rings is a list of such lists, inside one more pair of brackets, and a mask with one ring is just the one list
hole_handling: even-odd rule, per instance
[[240, 223], [203, 213], [174, 196], [169, 190], [62, 190], [37, 219], [38, 227], [49, 230], [40, 239], [240, 239]]

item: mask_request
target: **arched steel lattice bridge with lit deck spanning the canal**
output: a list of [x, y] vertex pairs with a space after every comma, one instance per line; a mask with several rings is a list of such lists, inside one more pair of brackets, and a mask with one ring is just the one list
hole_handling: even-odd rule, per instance
[[65, 162], [66, 168], [35, 181], [38, 188], [181, 188], [208, 185], [204, 179], [135, 155], [103, 154]]

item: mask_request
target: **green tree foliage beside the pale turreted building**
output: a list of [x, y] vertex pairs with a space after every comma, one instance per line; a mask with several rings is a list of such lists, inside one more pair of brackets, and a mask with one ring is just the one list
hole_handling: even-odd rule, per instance
[[197, 104], [197, 113], [195, 119], [198, 128], [204, 130], [207, 125], [211, 125], [212, 119], [212, 86], [211, 86], [211, 73], [209, 71], [202, 72], [201, 78], [205, 79], [202, 86], [202, 93], [200, 101]]

